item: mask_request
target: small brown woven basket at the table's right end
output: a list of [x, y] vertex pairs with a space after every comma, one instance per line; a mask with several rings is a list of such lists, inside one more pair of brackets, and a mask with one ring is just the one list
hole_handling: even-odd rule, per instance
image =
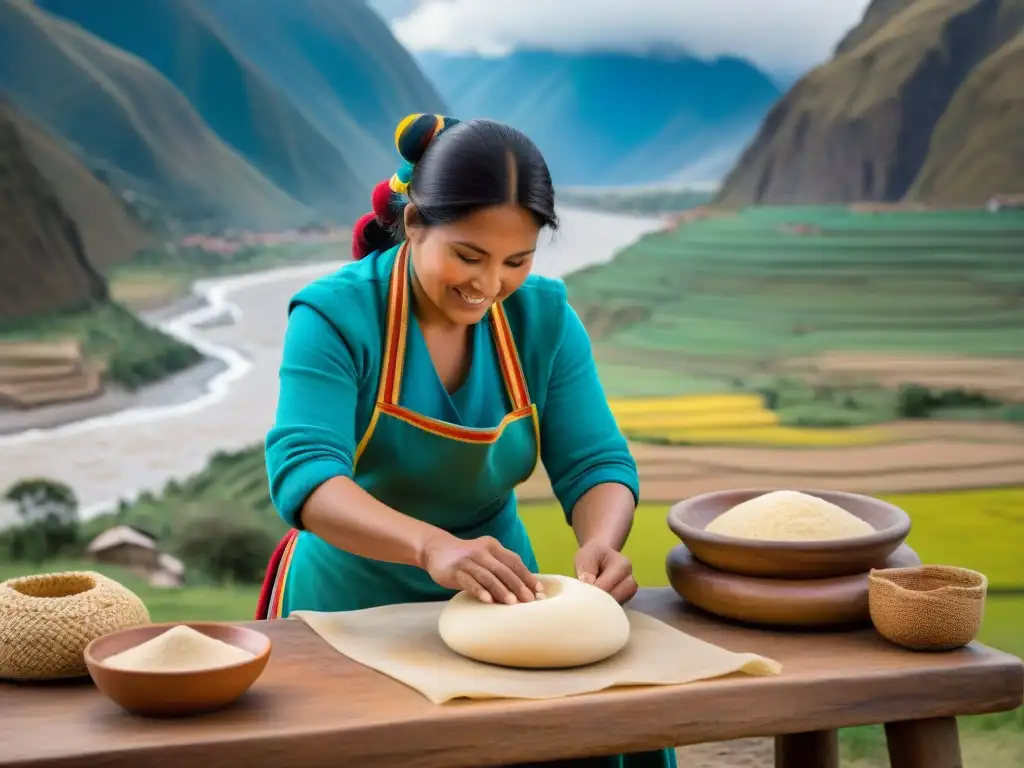
[[951, 565], [871, 569], [871, 623], [884, 638], [911, 650], [952, 650], [978, 636], [988, 580]]

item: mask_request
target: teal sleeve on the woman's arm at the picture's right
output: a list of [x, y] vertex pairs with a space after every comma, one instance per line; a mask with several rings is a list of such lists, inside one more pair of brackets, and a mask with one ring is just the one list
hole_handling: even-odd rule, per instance
[[575, 310], [567, 302], [564, 307], [541, 420], [541, 457], [571, 523], [577, 501], [595, 485], [621, 483], [639, 502], [640, 479], [598, 379], [587, 331]]

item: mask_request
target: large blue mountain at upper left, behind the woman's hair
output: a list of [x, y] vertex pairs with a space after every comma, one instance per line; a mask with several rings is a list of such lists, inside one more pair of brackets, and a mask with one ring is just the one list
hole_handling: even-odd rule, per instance
[[145, 60], [222, 141], [324, 216], [361, 213], [395, 169], [398, 121], [444, 110], [361, 0], [38, 3]]

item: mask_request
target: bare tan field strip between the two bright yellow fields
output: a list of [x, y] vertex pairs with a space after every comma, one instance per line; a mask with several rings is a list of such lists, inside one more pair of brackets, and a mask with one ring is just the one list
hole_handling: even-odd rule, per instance
[[[906, 442], [778, 449], [632, 445], [646, 501], [673, 502], [730, 487], [815, 487], [912, 493], [1024, 484], [1024, 426], [907, 422]], [[523, 500], [551, 499], [543, 467], [520, 486]]]

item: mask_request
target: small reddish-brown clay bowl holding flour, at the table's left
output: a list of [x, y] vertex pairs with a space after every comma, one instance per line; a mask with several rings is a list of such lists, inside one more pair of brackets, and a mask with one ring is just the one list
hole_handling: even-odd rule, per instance
[[[253, 654], [251, 660], [202, 672], [117, 670], [105, 658], [184, 624]], [[230, 624], [178, 622], [134, 627], [98, 637], [85, 648], [85, 664], [96, 687], [134, 715], [179, 717], [212, 712], [231, 703], [256, 682], [270, 658], [270, 639]]]

